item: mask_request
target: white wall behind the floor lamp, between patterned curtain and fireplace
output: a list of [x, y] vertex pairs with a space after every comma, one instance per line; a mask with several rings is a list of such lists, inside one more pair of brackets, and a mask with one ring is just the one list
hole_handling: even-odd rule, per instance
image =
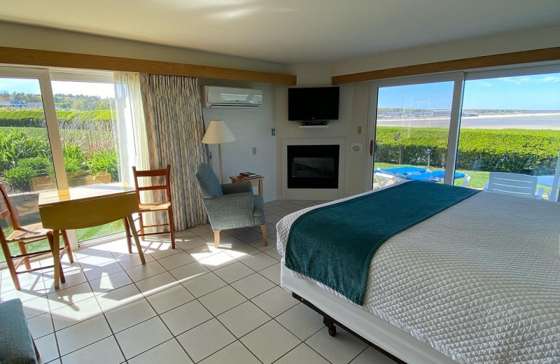
[[[210, 120], [223, 119], [237, 139], [232, 143], [222, 144], [222, 168], [224, 183], [229, 183], [229, 176], [239, 172], [255, 172], [265, 176], [263, 194], [265, 201], [276, 200], [276, 137], [272, 137], [274, 120], [274, 86], [265, 83], [243, 83], [221, 80], [201, 79], [201, 85], [218, 85], [226, 87], [247, 87], [262, 90], [262, 106], [251, 109], [202, 109], [204, 124], [208, 127]], [[253, 147], [257, 154], [253, 155]], [[218, 175], [218, 148], [209, 145], [213, 168]], [[255, 187], [255, 193], [257, 192]]]

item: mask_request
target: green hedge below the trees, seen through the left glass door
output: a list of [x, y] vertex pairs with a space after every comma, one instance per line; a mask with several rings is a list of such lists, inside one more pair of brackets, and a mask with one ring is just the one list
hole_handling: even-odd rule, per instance
[[[111, 130], [114, 111], [62, 111], [58, 110], [57, 120], [61, 129], [89, 129], [87, 124], [95, 123], [96, 130]], [[99, 125], [103, 125], [102, 128]], [[43, 110], [2, 110], [0, 109], [0, 127], [45, 127]]]

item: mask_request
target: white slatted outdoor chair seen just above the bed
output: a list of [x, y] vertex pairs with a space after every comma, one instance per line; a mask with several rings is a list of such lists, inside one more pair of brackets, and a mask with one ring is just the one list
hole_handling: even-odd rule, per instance
[[537, 177], [526, 174], [490, 172], [488, 184], [484, 190], [519, 197], [540, 199], [544, 190], [537, 190]]

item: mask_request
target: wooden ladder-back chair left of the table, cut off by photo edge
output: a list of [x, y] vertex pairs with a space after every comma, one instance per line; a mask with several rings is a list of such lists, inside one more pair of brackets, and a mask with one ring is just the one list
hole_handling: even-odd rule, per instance
[[[52, 268], [55, 265], [49, 265], [46, 267], [38, 267], [31, 269], [31, 262], [30, 258], [34, 258], [39, 255], [47, 255], [52, 253], [52, 246], [54, 244], [52, 239], [52, 230], [44, 229], [41, 223], [35, 223], [31, 225], [20, 225], [18, 221], [18, 215], [15, 211], [13, 204], [10, 202], [8, 198], [8, 194], [6, 190], [4, 190], [3, 186], [0, 184], [0, 194], [2, 195], [3, 205], [6, 209], [1, 210], [0, 207], [0, 220], [6, 220], [6, 225], [13, 228], [13, 231], [6, 236], [3, 229], [0, 228], [0, 245], [2, 247], [2, 252], [4, 253], [4, 257], [6, 258], [6, 265], [8, 265], [8, 271], [10, 272], [10, 276], [12, 277], [13, 284], [15, 289], [20, 290], [20, 279], [18, 279], [18, 274], [27, 273], [27, 272], [34, 272], [39, 269], [48, 269]], [[9, 218], [10, 223], [7, 223]], [[68, 259], [70, 262], [73, 262], [72, 257], [72, 248], [70, 247], [68, 235], [66, 234], [65, 230], [62, 230], [62, 238], [64, 240], [64, 246], [59, 248], [59, 259], [62, 258], [62, 255], [66, 253], [68, 255]], [[36, 241], [41, 241], [47, 239], [50, 249], [49, 250], [42, 250], [42, 251], [34, 251], [29, 253], [27, 251], [27, 244], [34, 243]], [[12, 255], [10, 243], [17, 243], [20, 248], [20, 254]], [[25, 265], [25, 270], [19, 270], [18, 268], [20, 265]], [[64, 283], [64, 272], [62, 272], [62, 265], [60, 266], [60, 281]]]

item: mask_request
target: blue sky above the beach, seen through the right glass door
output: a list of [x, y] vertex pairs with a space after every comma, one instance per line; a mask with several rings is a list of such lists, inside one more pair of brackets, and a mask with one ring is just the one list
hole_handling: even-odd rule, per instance
[[[453, 82], [381, 87], [379, 108], [451, 109]], [[560, 73], [466, 80], [463, 109], [560, 110]]]

